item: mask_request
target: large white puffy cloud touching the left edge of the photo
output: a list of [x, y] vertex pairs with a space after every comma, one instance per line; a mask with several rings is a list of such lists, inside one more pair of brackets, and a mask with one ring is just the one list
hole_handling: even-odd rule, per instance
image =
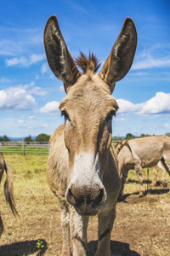
[[35, 98], [26, 91], [23, 85], [0, 90], [0, 110], [23, 110], [35, 105]]

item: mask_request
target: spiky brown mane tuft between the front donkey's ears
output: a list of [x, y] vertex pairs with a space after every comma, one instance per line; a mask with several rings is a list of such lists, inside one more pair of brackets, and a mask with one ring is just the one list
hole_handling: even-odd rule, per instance
[[88, 57], [80, 51], [80, 56], [75, 59], [77, 67], [82, 69], [82, 73], [87, 73], [88, 70], [91, 70], [93, 73], [96, 73], [101, 65], [101, 62], [96, 58], [93, 53], [89, 53]]

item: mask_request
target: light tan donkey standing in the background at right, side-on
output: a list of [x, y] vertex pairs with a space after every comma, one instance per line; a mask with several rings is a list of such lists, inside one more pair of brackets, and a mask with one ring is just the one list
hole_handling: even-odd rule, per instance
[[125, 140], [116, 145], [119, 172], [122, 175], [122, 187], [119, 199], [122, 198], [124, 184], [129, 170], [134, 169], [139, 181], [139, 197], [144, 195], [142, 168], [161, 165], [170, 175], [170, 137], [150, 136]]

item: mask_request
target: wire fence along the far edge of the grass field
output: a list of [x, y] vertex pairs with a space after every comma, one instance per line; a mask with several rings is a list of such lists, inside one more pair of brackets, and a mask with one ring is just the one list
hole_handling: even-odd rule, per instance
[[[119, 142], [113, 141], [112, 145], [115, 147]], [[48, 142], [0, 142], [0, 151], [3, 154], [49, 154], [49, 148]]]

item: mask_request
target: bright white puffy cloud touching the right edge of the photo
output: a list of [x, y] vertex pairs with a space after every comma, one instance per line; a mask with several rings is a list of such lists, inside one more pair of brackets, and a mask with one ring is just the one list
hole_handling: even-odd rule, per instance
[[157, 92], [156, 96], [141, 105], [139, 115], [170, 113], [170, 93]]

